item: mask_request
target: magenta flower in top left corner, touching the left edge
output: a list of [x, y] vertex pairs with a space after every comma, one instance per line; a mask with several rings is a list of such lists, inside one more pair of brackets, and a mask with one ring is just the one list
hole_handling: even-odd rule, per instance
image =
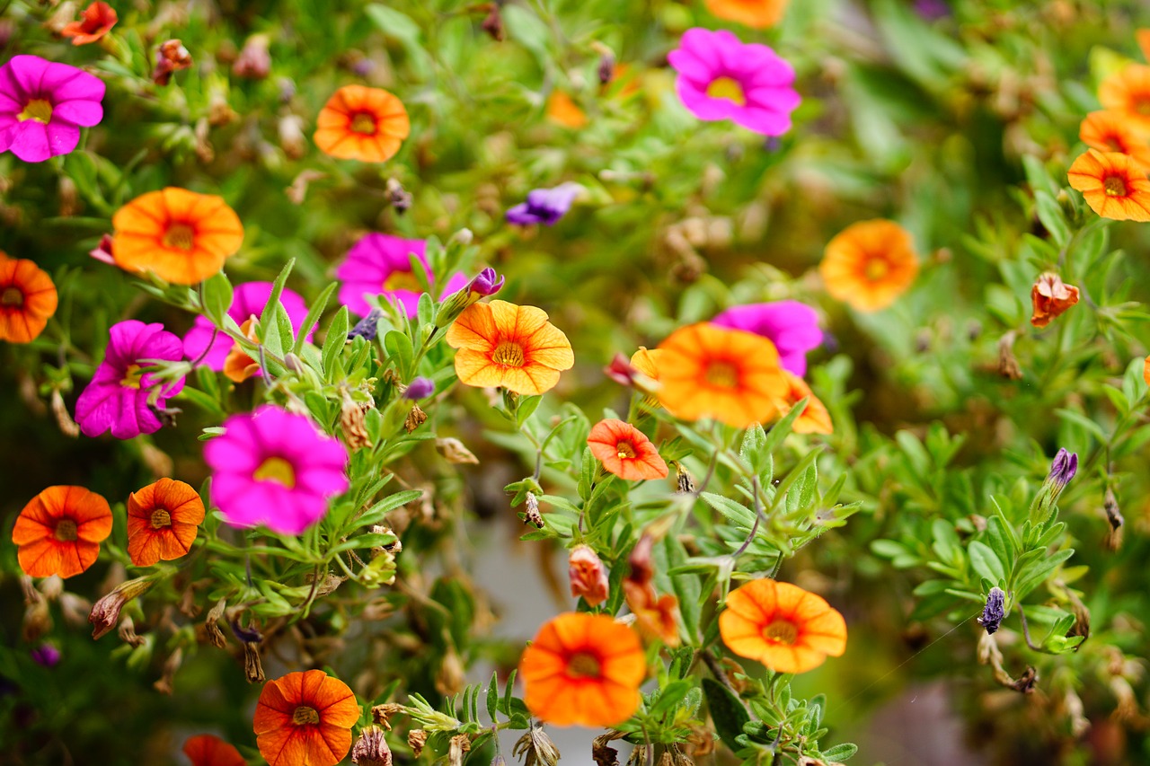
[[68, 154], [79, 129], [103, 118], [103, 82], [39, 56], [13, 56], [0, 67], [0, 152], [24, 162]]

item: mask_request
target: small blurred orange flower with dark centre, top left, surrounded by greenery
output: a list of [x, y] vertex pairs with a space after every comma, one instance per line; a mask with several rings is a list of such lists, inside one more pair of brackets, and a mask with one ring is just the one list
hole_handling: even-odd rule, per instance
[[315, 145], [340, 160], [385, 162], [412, 132], [404, 102], [379, 87], [344, 85], [320, 109]]

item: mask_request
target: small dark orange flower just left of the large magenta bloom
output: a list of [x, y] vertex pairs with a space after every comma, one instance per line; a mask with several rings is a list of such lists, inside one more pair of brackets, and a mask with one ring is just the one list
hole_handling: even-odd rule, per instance
[[161, 478], [128, 497], [128, 556], [138, 567], [170, 561], [192, 550], [204, 521], [204, 500], [184, 482]]

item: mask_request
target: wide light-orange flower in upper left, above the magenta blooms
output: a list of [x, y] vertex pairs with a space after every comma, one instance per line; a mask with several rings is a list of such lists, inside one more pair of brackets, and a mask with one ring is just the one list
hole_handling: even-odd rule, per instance
[[223, 198], [174, 186], [137, 197], [116, 210], [112, 225], [116, 266], [175, 284], [202, 282], [244, 242], [244, 227]]

